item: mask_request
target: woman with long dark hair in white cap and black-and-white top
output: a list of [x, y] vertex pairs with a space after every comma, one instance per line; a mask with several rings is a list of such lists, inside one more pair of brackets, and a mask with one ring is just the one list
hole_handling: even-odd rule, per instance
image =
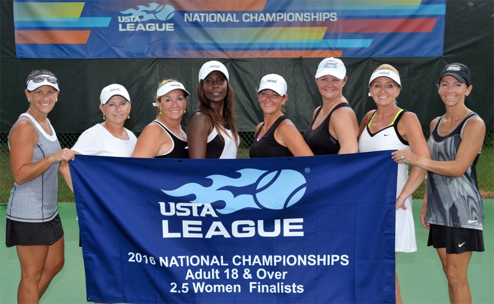
[[237, 158], [239, 136], [228, 70], [208, 61], [199, 70], [199, 104], [187, 125], [190, 158]]

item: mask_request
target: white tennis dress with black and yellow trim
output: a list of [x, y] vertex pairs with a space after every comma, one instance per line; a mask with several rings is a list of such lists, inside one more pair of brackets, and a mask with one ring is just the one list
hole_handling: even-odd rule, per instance
[[[400, 110], [394, 121], [386, 128], [372, 134], [369, 126], [362, 132], [359, 139], [359, 152], [381, 151], [381, 150], [403, 150], [409, 149], [408, 142], [398, 133], [398, 121], [405, 110]], [[389, 155], [391, 157], [391, 154]], [[408, 164], [398, 164], [398, 179], [396, 185], [396, 197], [398, 197], [408, 180]], [[396, 210], [395, 224], [395, 252], [413, 252], [417, 251], [417, 242], [415, 240], [415, 226], [413, 224], [412, 214], [412, 196], [405, 201], [407, 210], [399, 208]]]

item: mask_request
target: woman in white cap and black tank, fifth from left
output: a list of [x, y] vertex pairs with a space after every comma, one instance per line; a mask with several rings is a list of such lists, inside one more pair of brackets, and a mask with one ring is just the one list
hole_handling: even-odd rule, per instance
[[282, 113], [287, 82], [277, 74], [262, 77], [257, 90], [264, 121], [255, 128], [250, 158], [314, 155], [295, 125]]

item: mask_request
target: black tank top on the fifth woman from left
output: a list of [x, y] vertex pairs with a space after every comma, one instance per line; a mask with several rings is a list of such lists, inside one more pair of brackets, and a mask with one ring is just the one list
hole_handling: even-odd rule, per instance
[[278, 128], [281, 122], [285, 119], [288, 119], [288, 117], [286, 117], [285, 115], [280, 116], [275, 121], [273, 126], [269, 128], [268, 132], [266, 132], [264, 136], [258, 138], [257, 136], [259, 136], [259, 133], [264, 126], [264, 123], [262, 124], [262, 126], [257, 131], [257, 134], [255, 135], [255, 139], [252, 142], [252, 145], [250, 146], [250, 158], [293, 156], [287, 147], [279, 144], [275, 139], [276, 128]]

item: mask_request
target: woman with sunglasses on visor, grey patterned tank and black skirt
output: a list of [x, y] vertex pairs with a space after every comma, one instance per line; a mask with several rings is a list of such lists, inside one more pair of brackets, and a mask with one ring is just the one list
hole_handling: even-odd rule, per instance
[[58, 100], [55, 75], [33, 70], [26, 83], [29, 109], [10, 129], [8, 144], [14, 187], [7, 204], [5, 243], [16, 246], [21, 267], [18, 303], [39, 303], [64, 265], [64, 232], [57, 209], [58, 165], [74, 159], [61, 149], [47, 118]]

